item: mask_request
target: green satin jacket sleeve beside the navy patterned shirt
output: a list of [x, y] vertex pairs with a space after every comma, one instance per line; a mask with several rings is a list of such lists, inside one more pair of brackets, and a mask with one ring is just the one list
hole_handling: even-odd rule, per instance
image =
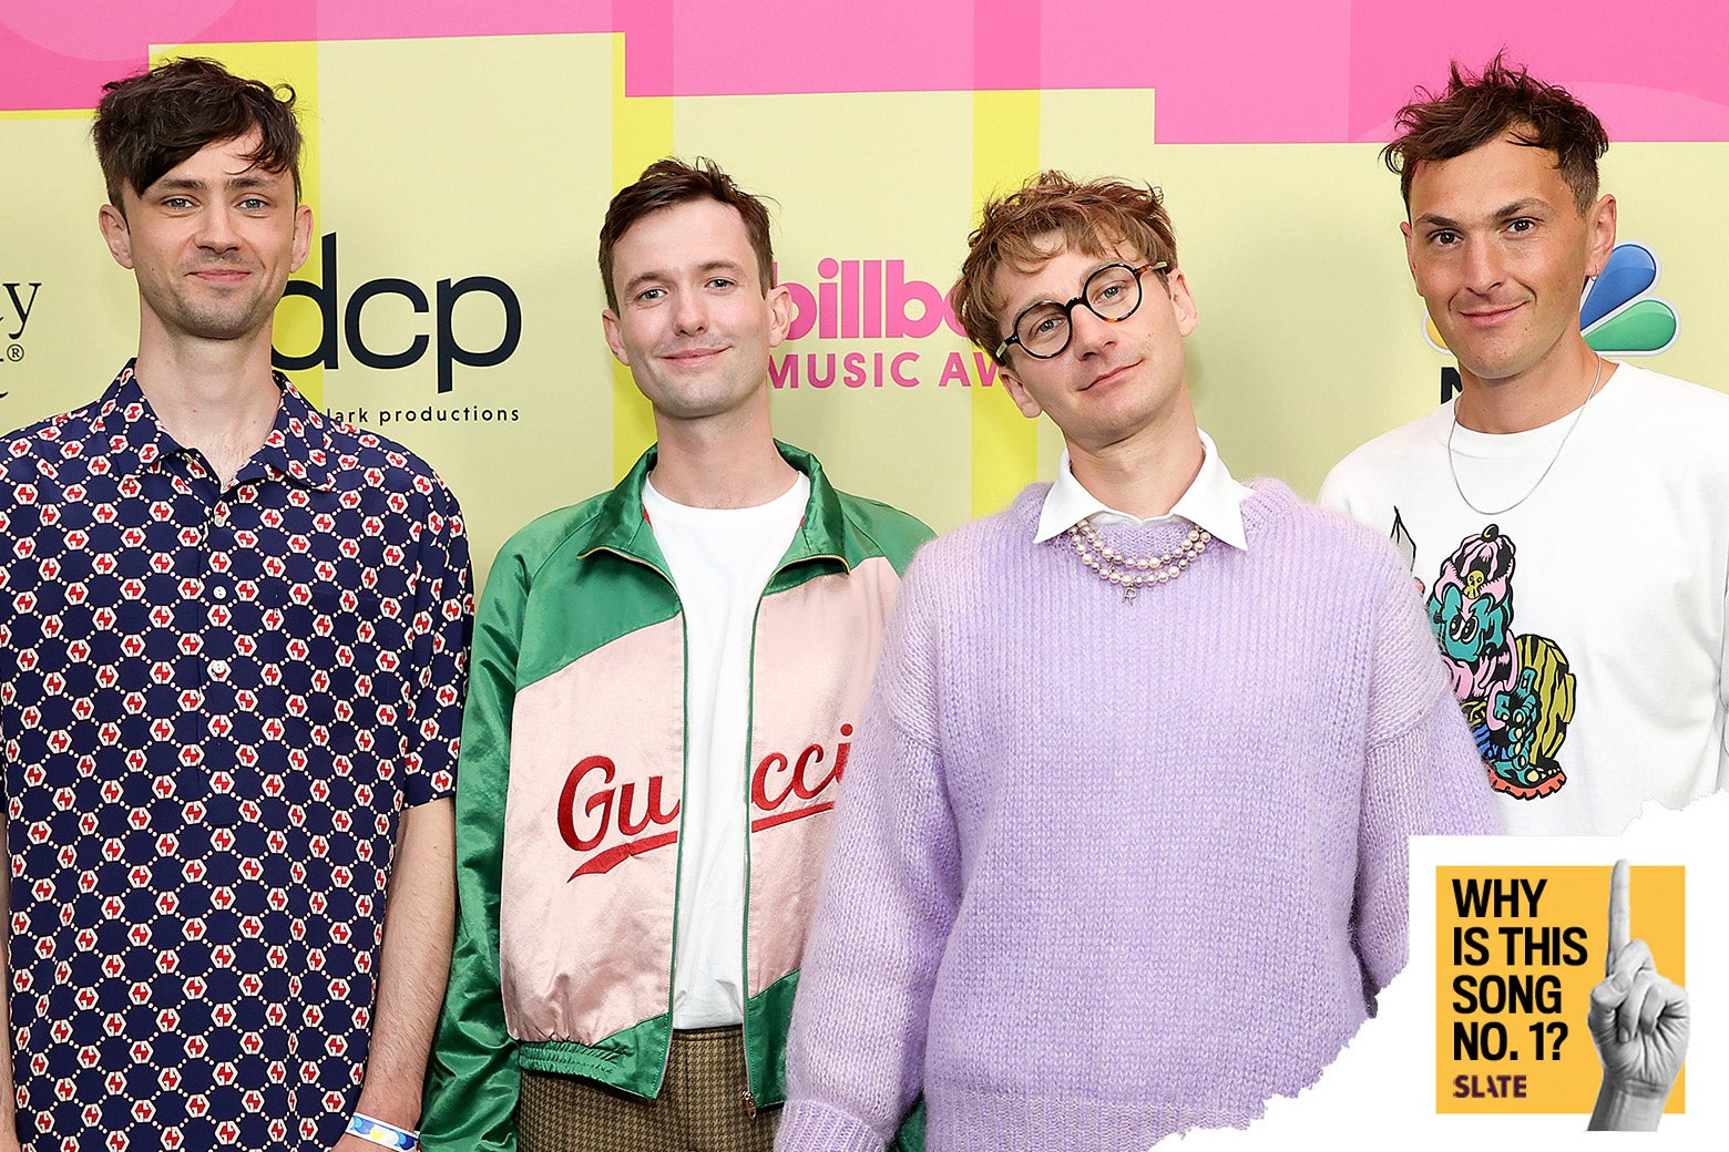
[[498, 893], [510, 717], [527, 601], [520, 560], [493, 565], [474, 627], [456, 767], [456, 945], [427, 1069], [420, 1143], [429, 1152], [515, 1152], [517, 1045], [505, 1029]]

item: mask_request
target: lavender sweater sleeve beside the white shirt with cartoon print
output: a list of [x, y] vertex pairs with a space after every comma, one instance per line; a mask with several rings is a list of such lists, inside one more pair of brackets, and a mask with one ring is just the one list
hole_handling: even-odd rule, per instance
[[1352, 912], [1371, 993], [1399, 974], [1409, 953], [1409, 838], [1501, 831], [1489, 774], [1411, 579], [1388, 568], [1373, 615]]

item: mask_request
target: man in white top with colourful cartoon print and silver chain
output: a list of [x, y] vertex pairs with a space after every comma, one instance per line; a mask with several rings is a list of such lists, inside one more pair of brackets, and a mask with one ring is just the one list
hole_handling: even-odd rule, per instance
[[1729, 397], [1580, 332], [1611, 261], [1655, 276], [1615, 247], [1606, 147], [1501, 57], [1399, 112], [1406, 257], [1461, 392], [1321, 489], [1411, 563], [1516, 832], [1613, 834], [1729, 779]]

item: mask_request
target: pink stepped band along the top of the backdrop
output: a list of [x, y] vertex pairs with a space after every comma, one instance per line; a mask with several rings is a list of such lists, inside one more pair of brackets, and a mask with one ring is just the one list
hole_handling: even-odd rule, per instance
[[0, 111], [85, 109], [152, 43], [622, 31], [633, 95], [1155, 88], [1165, 143], [1385, 138], [1449, 57], [1501, 47], [1585, 95], [1617, 140], [1729, 138], [1729, 3], [1454, 0], [337, 0], [19, 3]]

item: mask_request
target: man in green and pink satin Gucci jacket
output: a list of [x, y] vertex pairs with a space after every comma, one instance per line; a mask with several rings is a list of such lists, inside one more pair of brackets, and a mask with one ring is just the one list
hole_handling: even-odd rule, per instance
[[486, 585], [429, 1149], [773, 1143], [828, 810], [928, 530], [773, 439], [771, 266], [711, 162], [612, 199], [602, 326], [659, 442]]

